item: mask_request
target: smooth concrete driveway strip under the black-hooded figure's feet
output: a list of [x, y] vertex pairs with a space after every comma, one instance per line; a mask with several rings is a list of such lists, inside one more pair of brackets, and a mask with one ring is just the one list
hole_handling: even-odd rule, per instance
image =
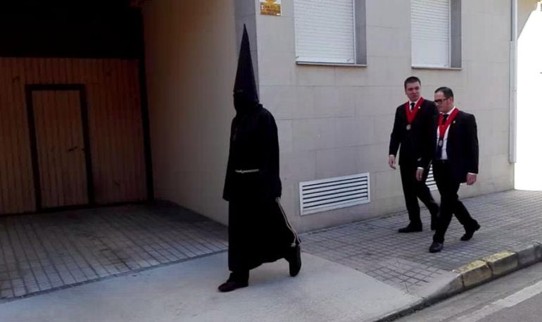
[[257, 268], [251, 285], [219, 293], [226, 253], [49, 292], [0, 306], [0, 321], [373, 321], [420, 299], [346, 266], [303, 254]]

